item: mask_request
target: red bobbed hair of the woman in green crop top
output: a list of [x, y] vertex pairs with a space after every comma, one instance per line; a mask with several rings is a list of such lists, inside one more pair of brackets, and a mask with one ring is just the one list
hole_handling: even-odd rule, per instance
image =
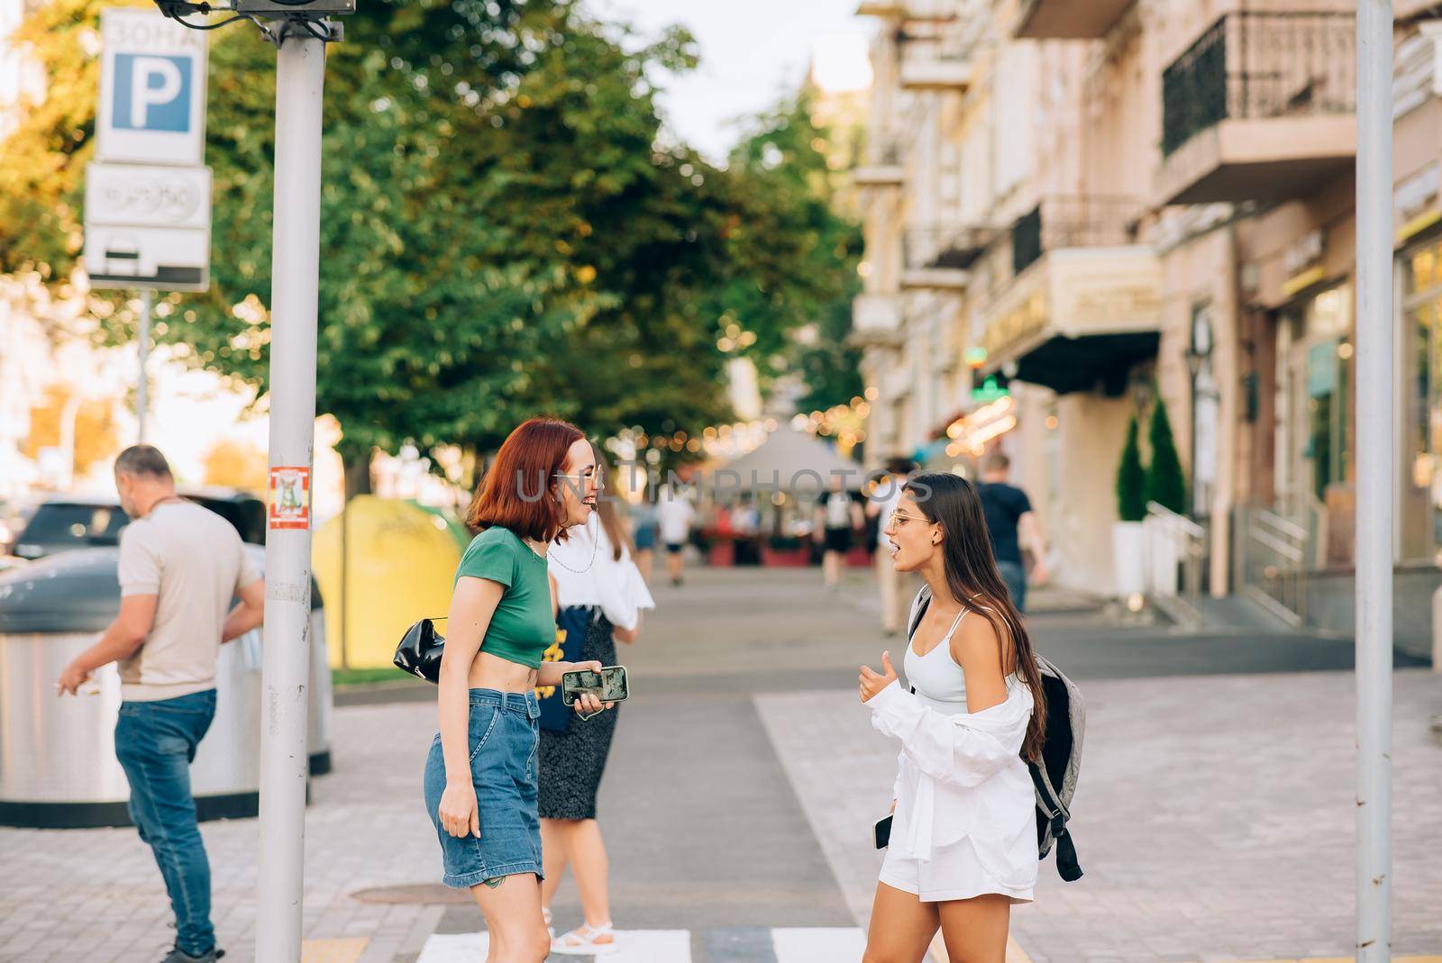
[[531, 418], [500, 445], [476, 486], [466, 525], [510, 529], [538, 542], [565, 541], [565, 507], [557, 497], [565, 456], [585, 434], [559, 418]]

